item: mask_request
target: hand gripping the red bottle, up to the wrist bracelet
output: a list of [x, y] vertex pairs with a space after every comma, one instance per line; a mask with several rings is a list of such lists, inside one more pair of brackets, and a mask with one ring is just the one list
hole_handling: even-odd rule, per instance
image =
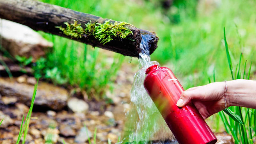
[[[225, 90], [225, 82], [216, 82], [189, 88], [187, 91], [182, 92], [177, 106], [183, 107], [189, 101], [192, 101], [203, 118], [206, 119], [225, 109]], [[226, 105], [227, 107], [229, 106], [228, 98]]]

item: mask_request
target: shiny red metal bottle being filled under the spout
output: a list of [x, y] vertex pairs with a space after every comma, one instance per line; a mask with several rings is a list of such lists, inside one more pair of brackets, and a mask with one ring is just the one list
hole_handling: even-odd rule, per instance
[[169, 68], [150, 66], [144, 87], [180, 144], [214, 144], [217, 138], [193, 103], [176, 106], [184, 91]]

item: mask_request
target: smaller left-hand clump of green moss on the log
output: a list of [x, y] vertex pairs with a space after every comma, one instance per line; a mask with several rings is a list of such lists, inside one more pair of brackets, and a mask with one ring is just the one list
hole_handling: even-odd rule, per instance
[[64, 22], [64, 24], [67, 25], [66, 28], [63, 28], [62, 26], [56, 28], [63, 31], [66, 36], [71, 36], [72, 38], [82, 38], [84, 29], [81, 27], [81, 24], [77, 24], [76, 20], [74, 20], [74, 23], [72, 24], [69, 24], [68, 22]]

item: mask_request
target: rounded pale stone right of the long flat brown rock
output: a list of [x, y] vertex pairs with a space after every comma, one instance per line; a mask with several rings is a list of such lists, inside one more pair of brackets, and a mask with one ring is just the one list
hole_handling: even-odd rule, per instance
[[70, 98], [68, 100], [68, 108], [70, 108], [75, 113], [86, 113], [89, 109], [89, 106], [84, 100]]

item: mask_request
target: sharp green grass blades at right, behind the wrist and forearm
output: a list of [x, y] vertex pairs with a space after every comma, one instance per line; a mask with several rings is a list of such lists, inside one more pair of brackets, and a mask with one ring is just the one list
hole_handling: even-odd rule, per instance
[[[228, 67], [232, 76], [232, 80], [240, 79], [241, 75], [242, 78], [246, 78], [246, 64], [247, 60], [244, 62], [244, 70], [243, 74], [240, 71], [241, 60], [243, 54], [240, 54], [239, 64], [236, 65], [235, 75], [233, 74], [233, 67], [232, 67], [232, 60], [230, 58], [230, 52], [228, 50], [228, 43], [226, 39], [226, 33], [224, 28], [224, 41], [225, 41], [225, 49], [226, 55], [228, 59]], [[250, 78], [250, 72], [252, 68], [252, 62], [249, 67], [249, 71], [247, 74], [247, 79]], [[210, 79], [210, 78], [209, 78]], [[215, 82], [215, 73], [214, 73], [214, 82]], [[225, 111], [228, 116], [226, 116], [223, 111]], [[242, 108], [237, 106], [232, 106], [229, 108], [224, 109], [223, 111], [219, 112], [220, 118], [225, 126], [225, 130], [227, 133], [231, 134], [235, 140], [235, 144], [242, 143], [242, 144], [253, 144], [253, 137], [255, 136], [255, 132], [252, 131], [252, 125], [254, 125], [255, 130], [255, 110], [254, 112], [250, 108]], [[254, 119], [252, 118], [254, 115]], [[248, 122], [247, 122], [248, 121]]]

